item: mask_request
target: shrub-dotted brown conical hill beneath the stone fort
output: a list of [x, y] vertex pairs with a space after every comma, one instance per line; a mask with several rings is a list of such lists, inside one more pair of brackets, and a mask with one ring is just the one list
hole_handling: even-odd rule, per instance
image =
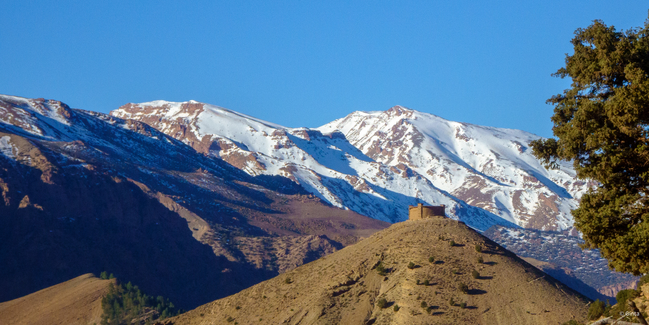
[[[450, 240], [456, 242], [450, 246]], [[476, 252], [475, 245], [483, 247]], [[434, 256], [436, 263], [429, 263]], [[484, 263], [477, 263], [482, 256]], [[376, 265], [389, 268], [386, 276]], [[410, 269], [408, 263], [415, 263]], [[472, 270], [480, 277], [472, 278]], [[417, 285], [428, 279], [430, 285]], [[458, 290], [466, 283], [469, 291]], [[378, 300], [385, 298], [387, 307]], [[453, 298], [455, 305], [449, 305]], [[421, 307], [426, 302], [431, 309]], [[466, 308], [459, 304], [465, 302]], [[184, 324], [561, 324], [587, 298], [461, 222], [406, 221], [173, 319]], [[400, 306], [394, 311], [394, 306]], [[238, 306], [238, 307], [237, 307]], [[231, 322], [228, 322], [228, 317]]]

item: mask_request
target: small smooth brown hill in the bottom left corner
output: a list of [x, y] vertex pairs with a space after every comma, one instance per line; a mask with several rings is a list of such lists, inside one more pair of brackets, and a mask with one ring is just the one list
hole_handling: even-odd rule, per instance
[[108, 292], [108, 283], [114, 281], [89, 273], [3, 302], [0, 304], [0, 324], [99, 324], [101, 298]]

